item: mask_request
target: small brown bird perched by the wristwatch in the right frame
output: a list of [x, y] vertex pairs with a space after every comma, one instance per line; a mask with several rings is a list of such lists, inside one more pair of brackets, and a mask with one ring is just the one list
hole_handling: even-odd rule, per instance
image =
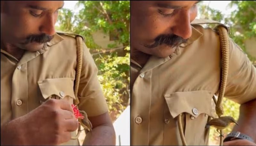
[[[211, 119], [205, 126], [205, 128], [209, 128], [210, 126], [213, 126], [216, 129], [216, 131], [220, 134], [220, 132], [218, 130], [222, 130], [225, 129], [226, 127], [229, 126], [230, 123], [235, 123], [236, 125], [238, 125], [236, 123], [236, 120], [233, 117], [230, 116], [223, 116], [220, 118], [214, 118]], [[222, 134], [220, 134], [222, 137], [224, 137]]]

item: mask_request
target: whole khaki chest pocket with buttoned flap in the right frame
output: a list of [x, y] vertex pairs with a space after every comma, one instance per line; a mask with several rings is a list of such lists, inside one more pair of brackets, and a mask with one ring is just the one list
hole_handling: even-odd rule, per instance
[[[180, 144], [178, 129], [178, 115], [182, 113], [183, 133], [188, 145], [208, 144], [209, 128], [205, 128], [208, 117], [214, 117], [212, 109], [211, 91], [198, 90], [189, 92], [175, 92], [165, 95], [164, 107], [174, 119], [176, 136]], [[168, 133], [168, 129], [164, 129]], [[170, 135], [171, 136], [171, 135]]]

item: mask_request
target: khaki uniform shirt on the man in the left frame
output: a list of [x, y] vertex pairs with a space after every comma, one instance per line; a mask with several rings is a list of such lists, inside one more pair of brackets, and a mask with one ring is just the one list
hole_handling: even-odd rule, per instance
[[[77, 56], [74, 36], [55, 34], [47, 46], [36, 52], [26, 51], [20, 61], [1, 49], [1, 127], [34, 110], [48, 97], [73, 104]], [[85, 44], [83, 50], [79, 110], [92, 117], [107, 112], [108, 107], [97, 78], [97, 66]], [[79, 142], [70, 140], [62, 145]]]

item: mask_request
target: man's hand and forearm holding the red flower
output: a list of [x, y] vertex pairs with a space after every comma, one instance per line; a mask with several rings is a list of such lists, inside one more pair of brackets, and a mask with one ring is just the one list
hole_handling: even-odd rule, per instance
[[1, 145], [59, 145], [78, 128], [71, 104], [49, 99], [1, 127]]

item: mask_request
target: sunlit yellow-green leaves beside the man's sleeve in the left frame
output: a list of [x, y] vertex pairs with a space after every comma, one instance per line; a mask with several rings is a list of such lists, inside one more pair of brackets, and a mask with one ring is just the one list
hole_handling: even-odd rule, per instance
[[[125, 49], [130, 50], [130, 47]], [[121, 97], [130, 96], [130, 53], [126, 53], [125, 57], [100, 55], [96, 61], [100, 61], [98, 78], [107, 97], [108, 108], [117, 114], [122, 113], [128, 98]]]

